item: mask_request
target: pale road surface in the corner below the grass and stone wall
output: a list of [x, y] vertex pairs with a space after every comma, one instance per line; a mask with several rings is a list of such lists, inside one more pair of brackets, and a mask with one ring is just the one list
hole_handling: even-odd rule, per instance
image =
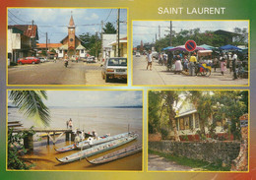
[[193, 168], [179, 165], [173, 161], [169, 161], [164, 157], [149, 153], [148, 170], [149, 171], [193, 171]]

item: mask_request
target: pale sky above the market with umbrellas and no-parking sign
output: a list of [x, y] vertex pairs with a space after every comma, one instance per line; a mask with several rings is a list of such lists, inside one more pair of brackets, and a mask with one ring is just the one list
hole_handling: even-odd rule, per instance
[[[156, 33], [160, 37], [169, 33], [169, 21], [134, 21], [133, 22], [133, 46], [156, 40]], [[248, 30], [248, 21], [172, 21], [172, 30], [193, 30], [200, 28], [201, 32], [205, 30], [227, 30], [233, 31], [234, 28], [246, 28]], [[183, 45], [183, 44], [180, 44]]]

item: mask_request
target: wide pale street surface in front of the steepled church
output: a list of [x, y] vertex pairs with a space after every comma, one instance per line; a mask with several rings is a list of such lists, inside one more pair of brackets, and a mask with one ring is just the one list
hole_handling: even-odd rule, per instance
[[8, 68], [9, 85], [126, 85], [126, 81], [112, 80], [105, 83], [101, 78], [99, 63], [69, 62], [67, 68], [62, 60], [18, 65]]

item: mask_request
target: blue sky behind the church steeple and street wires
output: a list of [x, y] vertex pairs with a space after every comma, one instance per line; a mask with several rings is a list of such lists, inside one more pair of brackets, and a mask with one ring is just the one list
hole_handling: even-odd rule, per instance
[[[116, 27], [117, 9], [49, 9], [49, 8], [9, 8], [8, 25], [38, 26], [39, 42], [45, 43], [45, 32], [51, 43], [59, 43], [68, 34], [71, 12], [76, 25], [76, 34], [95, 33], [101, 30], [100, 22], [110, 22]], [[120, 33], [127, 33], [127, 10], [120, 10]]]

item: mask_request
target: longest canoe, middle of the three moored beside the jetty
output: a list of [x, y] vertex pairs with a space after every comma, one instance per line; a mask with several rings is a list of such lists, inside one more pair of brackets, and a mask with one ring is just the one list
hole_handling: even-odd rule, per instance
[[105, 144], [101, 144], [101, 145], [97, 145], [93, 148], [87, 149], [87, 150], [81, 150], [79, 152], [73, 153], [71, 155], [62, 157], [62, 158], [57, 158], [56, 159], [62, 163], [68, 163], [68, 162], [73, 162], [85, 157], [89, 157], [92, 155], [95, 155], [97, 153], [106, 151], [106, 150], [112, 150], [114, 148], [120, 147], [124, 144], [127, 144], [133, 140], [135, 140], [138, 137], [138, 135], [136, 134], [129, 134], [129, 136], [118, 139], [118, 140], [114, 140]]

